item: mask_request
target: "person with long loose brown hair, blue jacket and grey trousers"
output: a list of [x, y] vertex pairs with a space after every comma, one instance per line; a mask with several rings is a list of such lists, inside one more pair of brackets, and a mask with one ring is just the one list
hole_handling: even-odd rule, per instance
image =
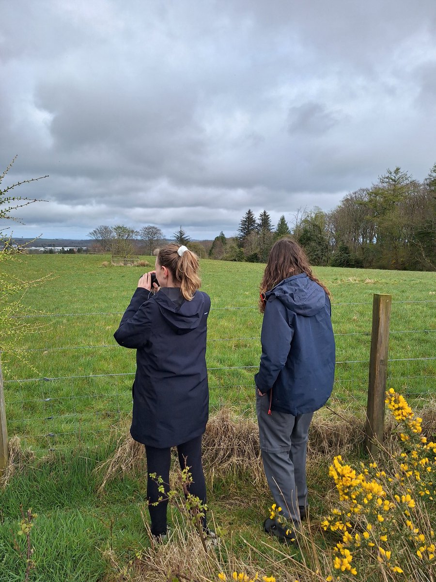
[[330, 397], [335, 368], [330, 293], [312, 273], [302, 247], [284, 238], [272, 247], [260, 285], [262, 356], [255, 375], [260, 449], [277, 516], [264, 528], [295, 540], [306, 516], [306, 448], [313, 412]]

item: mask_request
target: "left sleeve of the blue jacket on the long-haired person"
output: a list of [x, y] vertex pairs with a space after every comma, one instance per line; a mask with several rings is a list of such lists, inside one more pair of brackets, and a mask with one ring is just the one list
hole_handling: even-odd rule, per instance
[[288, 359], [294, 329], [288, 324], [286, 307], [278, 299], [270, 299], [263, 314], [262, 356], [260, 369], [255, 375], [260, 392], [269, 391]]

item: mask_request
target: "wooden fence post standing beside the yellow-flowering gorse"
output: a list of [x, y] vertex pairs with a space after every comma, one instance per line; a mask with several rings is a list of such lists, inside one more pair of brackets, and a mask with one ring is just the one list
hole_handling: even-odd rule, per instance
[[391, 303], [391, 295], [374, 294], [365, 430], [365, 446], [371, 455], [377, 453], [377, 443], [383, 443]]

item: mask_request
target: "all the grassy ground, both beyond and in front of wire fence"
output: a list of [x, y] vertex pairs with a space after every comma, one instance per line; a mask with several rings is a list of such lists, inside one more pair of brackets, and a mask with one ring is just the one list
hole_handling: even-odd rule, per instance
[[[182, 539], [183, 528], [180, 533], [176, 527], [174, 545], [162, 549], [162, 556], [159, 551], [152, 553], [151, 561], [140, 560], [138, 567], [130, 570], [129, 562], [135, 562], [136, 553], [149, 551], [141, 517], [145, 473], [139, 470], [118, 475], [103, 494], [97, 493], [101, 476], [95, 467], [115, 449], [111, 427], [121, 417], [123, 430], [127, 431], [135, 367], [134, 351], [117, 346], [112, 334], [145, 270], [105, 268], [101, 267], [103, 260], [96, 255], [43, 255], [25, 257], [10, 266], [11, 274], [23, 279], [48, 273], [53, 278], [44, 286], [30, 289], [24, 298], [28, 307], [51, 314], [32, 318], [45, 327], [18, 346], [33, 350], [25, 352], [27, 363], [16, 358], [6, 362], [9, 435], [19, 435], [23, 446], [31, 446], [37, 457], [42, 453], [45, 457], [38, 461], [28, 455], [18, 456], [20, 470], [5, 489], [0, 489], [0, 582], [24, 580], [26, 558], [19, 556], [13, 544], [21, 519], [20, 505], [38, 513], [31, 531], [36, 568], [30, 580], [172, 580], [165, 568], [160, 575], [147, 574], [151, 561], [162, 558], [165, 564], [164, 552], [182, 560], [184, 552], [192, 556], [201, 551], [194, 537], [188, 539], [194, 546], [187, 546]], [[152, 264], [151, 258], [149, 261]], [[202, 289], [212, 298], [207, 353], [211, 409], [214, 412], [223, 404], [230, 405], [247, 422], [253, 418], [253, 374], [259, 363], [262, 317], [256, 306], [262, 271], [262, 265], [202, 261]], [[317, 268], [316, 274], [333, 294], [337, 360], [350, 362], [338, 363], [330, 405], [340, 410], [342, 417], [362, 416], [373, 293], [393, 296], [389, 357], [433, 357], [435, 303], [430, 301], [436, 299], [435, 276], [339, 268]], [[434, 392], [434, 360], [393, 361], [389, 374], [390, 384], [403, 393], [423, 395], [415, 401], [418, 404], [425, 403]], [[345, 428], [341, 418], [335, 422], [333, 439], [326, 445], [327, 455], [320, 456], [318, 451], [309, 457], [309, 530], [320, 556], [329, 540], [320, 534], [319, 523], [334, 494], [328, 464], [341, 450], [335, 431], [342, 431], [346, 437], [356, 435], [358, 430], [353, 420]], [[356, 457], [359, 448], [350, 452]], [[310, 548], [306, 553], [283, 549], [262, 533], [260, 524], [271, 501], [259, 471], [255, 458], [252, 469], [237, 474], [215, 470], [213, 463], [208, 469], [209, 505], [224, 531], [217, 559], [232, 569], [244, 562], [264, 574], [280, 569], [280, 582], [296, 577], [301, 581], [320, 580], [309, 574], [302, 576], [297, 567], [304, 560], [315, 560]], [[171, 512], [171, 519], [173, 523], [180, 520], [176, 510]], [[313, 563], [310, 567], [315, 569]], [[217, 579], [211, 576], [208, 580]]]

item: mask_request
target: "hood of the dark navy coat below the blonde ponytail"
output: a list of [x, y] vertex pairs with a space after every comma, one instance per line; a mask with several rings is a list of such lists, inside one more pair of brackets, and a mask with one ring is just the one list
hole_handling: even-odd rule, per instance
[[201, 318], [209, 311], [202, 293], [196, 292], [191, 301], [180, 301], [174, 294], [166, 293], [166, 290], [160, 289], [156, 294], [156, 302], [159, 305], [162, 317], [170, 324], [171, 328], [178, 333], [188, 333], [191, 329], [199, 326]]

